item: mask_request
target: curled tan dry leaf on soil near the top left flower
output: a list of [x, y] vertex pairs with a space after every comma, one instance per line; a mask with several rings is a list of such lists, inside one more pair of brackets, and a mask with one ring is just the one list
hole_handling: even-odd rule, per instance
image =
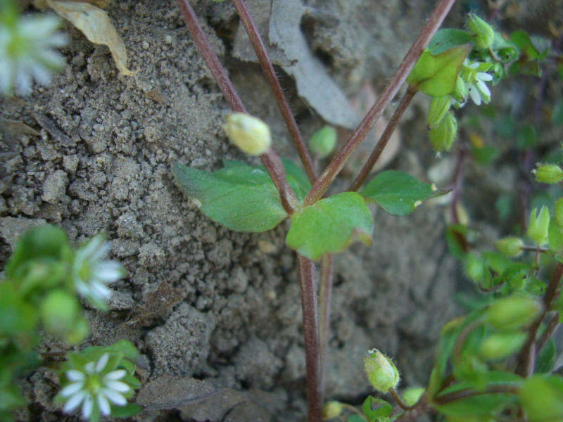
[[91, 42], [108, 46], [122, 75], [137, 74], [138, 70], [127, 69], [125, 43], [111, 24], [108, 14], [101, 8], [76, 1], [46, 0], [46, 4], [63, 18], [70, 20]]

